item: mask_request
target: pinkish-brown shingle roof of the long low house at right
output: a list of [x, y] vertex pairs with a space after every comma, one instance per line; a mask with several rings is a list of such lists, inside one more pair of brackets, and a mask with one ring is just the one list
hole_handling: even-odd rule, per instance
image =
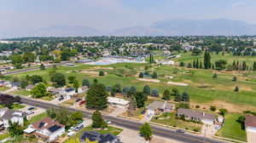
[[214, 120], [215, 116], [213, 114], [209, 114], [206, 112], [200, 112], [196, 111], [193, 109], [183, 109], [183, 108], [178, 108], [177, 109], [177, 114], [178, 115], [185, 115], [188, 117], [197, 117], [200, 119], [208, 119], [208, 120]]

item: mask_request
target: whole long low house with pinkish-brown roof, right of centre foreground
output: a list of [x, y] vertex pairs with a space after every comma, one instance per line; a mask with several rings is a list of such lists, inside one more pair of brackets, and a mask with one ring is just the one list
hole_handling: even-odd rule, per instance
[[177, 116], [184, 116], [187, 120], [194, 120], [197, 122], [202, 122], [205, 124], [214, 124], [215, 116], [213, 114], [209, 114], [207, 112], [200, 112], [193, 109], [177, 109]]

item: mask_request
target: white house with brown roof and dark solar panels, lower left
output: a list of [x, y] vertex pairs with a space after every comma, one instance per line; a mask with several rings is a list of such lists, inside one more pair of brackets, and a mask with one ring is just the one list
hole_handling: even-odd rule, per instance
[[43, 120], [29, 125], [24, 132], [26, 134], [34, 134], [44, 140], [53, 141], [62, 134], [65, 134], [65, 125], [51, 119], [50, 117], [45, 117]]

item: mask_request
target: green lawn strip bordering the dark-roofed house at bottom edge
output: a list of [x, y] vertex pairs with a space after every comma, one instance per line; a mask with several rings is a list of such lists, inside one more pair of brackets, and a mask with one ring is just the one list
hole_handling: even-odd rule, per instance
[[108, 129], [103, 129], [103, 130], [95, 130], [91, 126], [88, 126], [88, 127], [85, 127], [84, 129], [80, 130], [77, 134], [75, 134], [70, 139], [79, 139], [81, 137], [81, 135], [84, 133], [84, 131], [92, 131], [92, 130], [94, 130], [98, 133], [101, 133], [101, 134], [114, 134], [114, 135], [118, 135], [123, 131], [123, 129], [118, 129], [118, 128], [111, 127], [111, 126], [108, 126]]

